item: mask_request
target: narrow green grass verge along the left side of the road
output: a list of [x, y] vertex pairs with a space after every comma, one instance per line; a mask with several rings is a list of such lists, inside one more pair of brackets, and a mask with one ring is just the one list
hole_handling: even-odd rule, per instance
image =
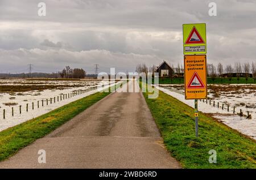
[[26, 145], [31, 144], [36, 139], [49, 134], [49, 132], [63, 125], [75, 117], [75, 115], [109, 94], [110, 92], [97, 92], [41, 115], [38, 118], [1, 131], [0, 161], [14, 155], [19, 149], [26, 147]]

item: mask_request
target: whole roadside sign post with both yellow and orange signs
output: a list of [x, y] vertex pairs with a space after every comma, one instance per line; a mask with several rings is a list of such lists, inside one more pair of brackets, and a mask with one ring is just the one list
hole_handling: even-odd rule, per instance
[[183, 24], [184, 90], [186, 100], [195, 100], [195, 130], [198, 137], [198, 100], [207, 98], [206, 24]]

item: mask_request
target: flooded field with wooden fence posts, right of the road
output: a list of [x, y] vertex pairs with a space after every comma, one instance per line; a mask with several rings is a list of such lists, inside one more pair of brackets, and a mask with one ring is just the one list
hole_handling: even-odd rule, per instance
[[[194, 108], [193, 100], [185, 100], [184, 95], [172, 91], [184, 91], [183, 85], [162, 84], [159, 89]], [[198, 103], [199, 111], [209, 113], [218, 121], [256, 139], [255, 84], [208, 85], [208, 101]]]

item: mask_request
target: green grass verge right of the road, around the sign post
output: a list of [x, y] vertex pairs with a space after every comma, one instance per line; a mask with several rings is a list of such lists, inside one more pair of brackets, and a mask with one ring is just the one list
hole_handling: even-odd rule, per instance
[[[236, 130], [199, 113], [199, 138], [195, 138], [194, 110], [159, 91], [156, 99], [143, 93], [171, 155], [183, 168], [256, 168], [256, 143]], [[209, 150], [217, 151], [210, 164]]]

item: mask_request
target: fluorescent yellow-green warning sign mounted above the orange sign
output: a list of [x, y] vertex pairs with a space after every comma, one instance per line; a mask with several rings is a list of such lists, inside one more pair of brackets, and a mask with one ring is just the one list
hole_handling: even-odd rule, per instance
[[206, 54], [206, 24], [183, 24], [183, 53]]

